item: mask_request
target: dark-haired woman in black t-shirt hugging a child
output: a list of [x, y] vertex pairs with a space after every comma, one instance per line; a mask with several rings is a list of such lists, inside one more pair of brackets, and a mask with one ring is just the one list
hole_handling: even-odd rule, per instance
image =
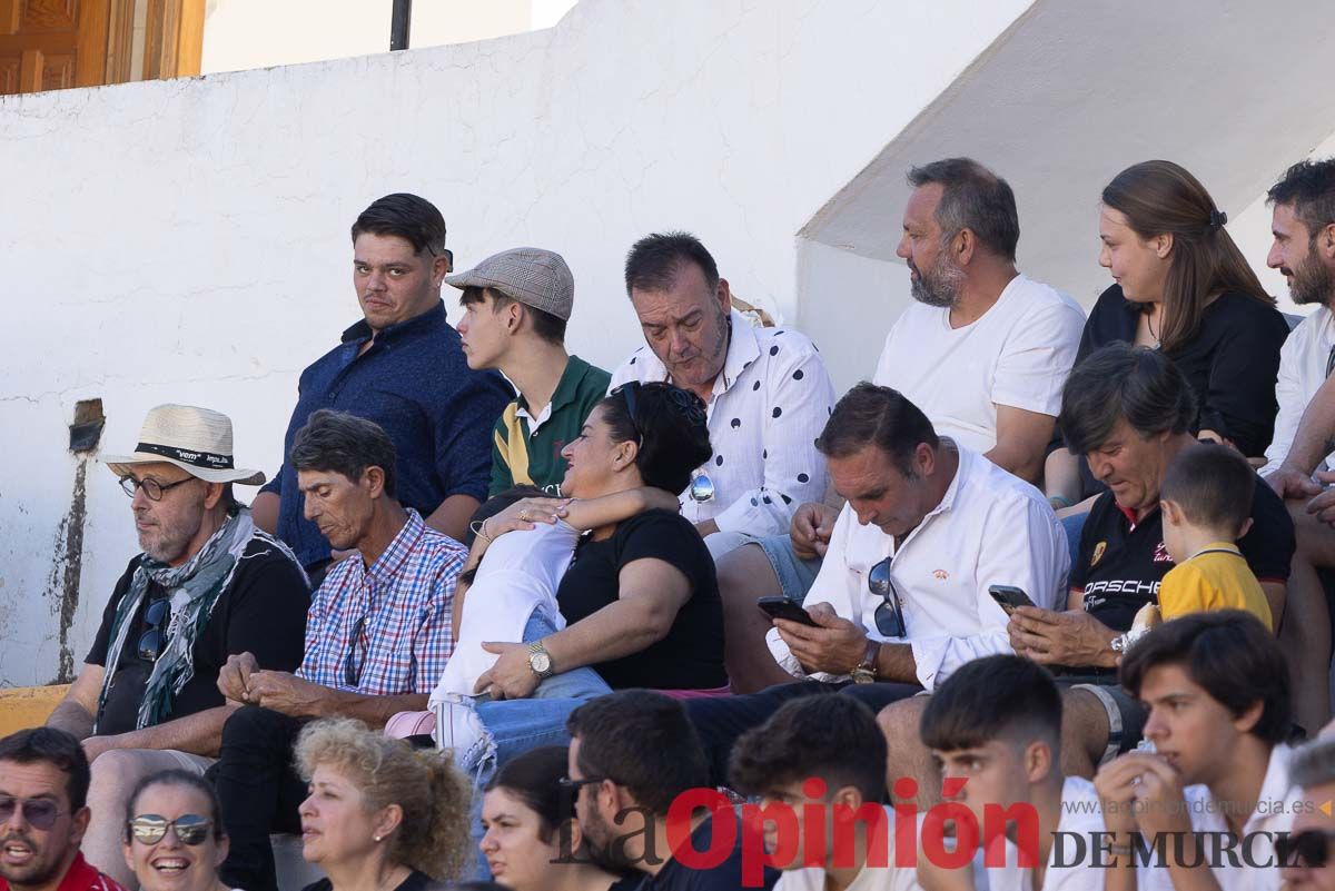
[[[674, 495], [712, 454], [705, 405], [672, 384], [618, 387], [589, 413], [562, 456], [562, 495], [590, 499], [653, 487]], [[507, 508], [491, 528], [531, 520], [547, 500]], [[575, 550], [557, 602], [567, 627], [509, 644], [483, 675], [497, 699], [529, 696], [538, 672], [591, 666], [613, 688], [724, 687], [724, 619], [709, 548], [680, 514], [645, 511], [594, 528]], [[543, 675], [545, 676], [545, 675]], [[479, 682], [482, 683], [482, 682]], [[483, 720], [487, 719], [483, 707]]]

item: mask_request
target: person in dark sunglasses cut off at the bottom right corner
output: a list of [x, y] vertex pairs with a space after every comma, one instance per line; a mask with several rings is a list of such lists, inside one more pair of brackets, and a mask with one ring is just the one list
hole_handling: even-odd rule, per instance
[[1294, 754], [1288, 779], [1299, 808], [1287, 839], [1275, 842], [1288, 891], [1335, 891], [1335, 739], [1323, 738]]

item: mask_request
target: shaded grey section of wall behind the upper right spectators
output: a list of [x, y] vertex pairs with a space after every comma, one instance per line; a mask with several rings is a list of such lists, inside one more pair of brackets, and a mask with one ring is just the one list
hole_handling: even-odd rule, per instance
[[836, 383], [872, 375], [909, 300], [894, 256], [909, 167], [967, 155], [1005, 177], [1020, 271], [1088, 309], [1111, 284], [1096, 220], [1119, 171], [1175, 160], [1236, 217], [1335, 131], [1327, 91], [1274, 88], [1276, 57], [1286, 83], [1323, 83], [1335, 44], [1323, 12], [1320, 0], [1037, 0], [798, 233], [798, 324], [828, 361], [838, 347]]

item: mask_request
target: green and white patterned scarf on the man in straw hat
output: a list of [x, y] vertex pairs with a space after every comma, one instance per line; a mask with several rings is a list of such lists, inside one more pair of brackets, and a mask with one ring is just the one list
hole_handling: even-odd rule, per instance
[[243, 507], [231, 514], [227, 522], [204, 542], [204, 547], [182, 566], [172, 567], [147, 554], [139, 555], [139, 566], [135, 567], [129, 590], [116, 606], [116, 615], [111, 623], [112, 643], [107, 650], [107, 670], [97, 698], [95, 734], [96, 724], [101, 723], [101, 711], [116, 678], [116, 668], [120, 666], [120, 654], [125, 648], [131, 628], [136, 624], [134, 619], [148, 595], [148, 583], [154, 582], [167, 591], [167, 596], [171, 598], [171, 616], [163, 622], [164, 646], [144, 686], [144, 698], [139, 703], [139, 719], [135, 724], [138, 728], [160, 724], [171, 716], [176, 694], [195, 676], [195, 643], [256, 534], [268, 539], [256, 530], [250, 510]]

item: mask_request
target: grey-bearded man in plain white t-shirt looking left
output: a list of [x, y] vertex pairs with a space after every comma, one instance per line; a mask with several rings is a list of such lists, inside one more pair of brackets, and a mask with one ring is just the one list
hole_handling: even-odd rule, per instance
[[[1016, 269], [1020, 221], [1004, 179], [967, 157], [914, 167], [908, 179], [913, 193], [897, 253], [914, 301], [890, 328], [873, 381], [904, 393], [937, 433], [1037, 483], [1084, 312]], [[837, 514], [802, 504], [788, 536], [720, 560], [734, 690], [774, 683], [756, 655], [765, 631], [756, 598], [782, 592], [801, 600]]]

